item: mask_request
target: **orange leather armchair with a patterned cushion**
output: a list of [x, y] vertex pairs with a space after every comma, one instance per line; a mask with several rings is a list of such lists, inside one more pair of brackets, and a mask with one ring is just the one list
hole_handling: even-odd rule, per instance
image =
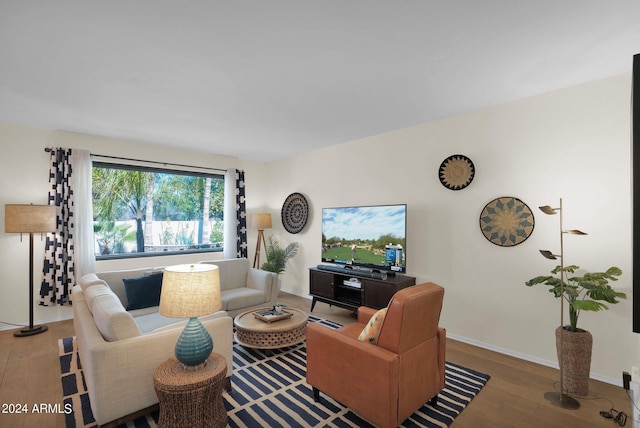
[[397, 427], [444, 388], [446, 331], [438, 326], [444, 289], [425, 283], [398, 291], [377, 345], [358, 340], [375, 309], [337, 330], [307, 326], [307, 383], [380, 427]]

